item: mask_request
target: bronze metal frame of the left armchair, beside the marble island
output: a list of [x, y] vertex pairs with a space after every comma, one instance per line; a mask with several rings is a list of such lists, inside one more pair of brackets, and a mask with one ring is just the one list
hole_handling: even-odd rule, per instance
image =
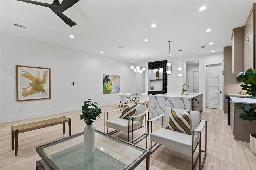
[[[107, 120], [108, 120], [108, 113], [109, 112], [114, 112], [114, 111], [120, 111], [122, 108], [120, 108], [120, 109], [116, 109], [116, 110], [113, 110], [113, 111], [107, 111], [107, 112], [104, 112], [104, 133], [106, 133], [106, 113], [107, 113]], [[146, 121], [146, 114], [147, 114], [147, 120], [149, 120], [149, 111], [145, 111], [145, 112], [143, 112], [142, 114], [140, 114], [140, 115], [137, 115], [137, 116], [130, 116], [129, 118], [128, 118], [128, 142], [130, 142], [130, 133], [132, 133], [132, 141], [131, 141], [131, 143], [133, 143], [133, 144], [136, 144], [136, 143], [138, 143], [138, 142], [140, 142], [142, 139], [144, 139], [144, 138], [146, 138], [147, 139], [147, 132], [146, 132], [146, 124], [147, 124], [147, 121]], [[136, 131], [136, 130], [138, 130], [138, 129], [140, 129], [140, 128], [136, 128], [136, 129], [133, 129], [133, 119], [134, 118], [136, 118], [136, 117], [140, 117], [140, 116], [143, 116], [143, 115], [145, 115], [145, 125], [144, 126], [141, 126], [140, 128], [143, 128], [144, 127], [144, 134], [142, 134], [142, 135], [140, 135], [139, 137], [137, 137], [136, 139], [134, 139], [133, 140], [133, 132], [134, 131]], [[132, 131], [130, 131], [130, 121], [132, 121]], [[109, 135], [112, 135], [112, 134], [114, 134], [114, 133], [116, 133], [116, 132], [119, 132], [120, 130], [113, 130], [113, 131], [111, 131], [111, 132], [108, 132], [108, 127], [107, 127], [107, 134], [109, 134]], [[144, 136], [144, 135], [146, 135], [146, 136]], [[143, 137], [144, 136], [144, 137]], [[143, 138], [141, 138], [141, 137], [143, 137]], [[141, 138], [141, 139], [140, 139]], [[138, 140], [138, 139], [140, 139], [140, 140]], [[138, 141], [137, 141], [138, 140]], [[137, 141], [137, 142], [135, 142], [135, 141]], [[135, 143], [134, 143], [135, 142]]]

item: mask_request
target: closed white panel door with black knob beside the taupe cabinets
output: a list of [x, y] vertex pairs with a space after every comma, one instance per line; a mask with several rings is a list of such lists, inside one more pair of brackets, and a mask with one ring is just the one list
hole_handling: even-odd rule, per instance
[[222, 107], [222, 64], [206, 65], [206, 107]]

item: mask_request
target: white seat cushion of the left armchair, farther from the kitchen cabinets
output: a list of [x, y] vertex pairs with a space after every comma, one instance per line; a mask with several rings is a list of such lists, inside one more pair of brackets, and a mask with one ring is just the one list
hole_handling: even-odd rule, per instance
[[[128, 132], [128, 119], [116, 118], [106, 121], [106, 126], [109, 128], [117, 129], [122, 132]], [[133, 121], [133, 129], [141, 127], [139, 121]], [[130, 120], [130, 131], [132, 131], [132, 121]]]

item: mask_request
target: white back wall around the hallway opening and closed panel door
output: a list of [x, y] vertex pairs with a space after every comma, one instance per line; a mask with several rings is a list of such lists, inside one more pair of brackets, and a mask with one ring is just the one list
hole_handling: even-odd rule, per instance
[[[205, 74], [204, 66], [210, 63], [222, 63], [223, 52], [182, 58], [184, 61], [199, 61], [199, 92], [203, 93], [203, 107], [205, 107]], [[172, 74], [168, 75], [167, 92], [181, 92], [183, 78], [178, 77], [179, 58], [170, 59], [172, 62]]]

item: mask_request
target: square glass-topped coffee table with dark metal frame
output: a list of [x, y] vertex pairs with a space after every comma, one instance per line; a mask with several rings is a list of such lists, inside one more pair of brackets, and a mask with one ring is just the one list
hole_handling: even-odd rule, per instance
[[149, 150], [97, 130], [93, 153], [84, 153], [84, 132], [36, 147], [36, 152], [42, 158], [36, 162], [39, 170], [137, 169], [144, 159], [149, 169]]

